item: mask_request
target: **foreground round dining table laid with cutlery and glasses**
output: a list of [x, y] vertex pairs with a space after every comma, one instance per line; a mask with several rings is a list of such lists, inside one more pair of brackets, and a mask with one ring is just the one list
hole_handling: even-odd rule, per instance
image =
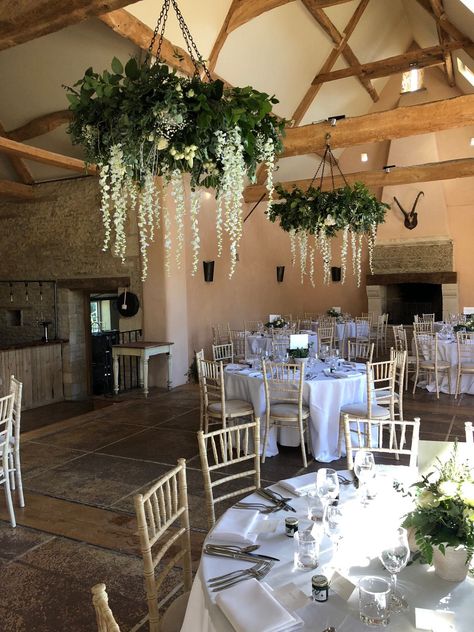
[[[383, 542], [381, 535], [400, 524], [401, 516], [410, 509], [411, 503], [411, 500], [394, 490], [393, 483], [394, 480], [398, 480], [408, 485], [416, 480], [417, 475], [416, 471], [399, 465], [377, 468], [380, 468], [377, 476], [379, 491], [368, 506], [362, 506], [352, 483], [340, 486], [339, 505], [345, 516], [345, 529], [338, 550], [325, 535], [322, 523], [315, 523], [315, 533], [318, 534], [320, 542], [319, 563], [315, 569], [300, 570], [295, 567], [295, 542], [293, 538], [285, 535], [284, 523], [288, 516], [297, 517], [300, 525], [311, 525], [306, 516], [305, 497], [293, 496], [288, 489], [278, 484], [270, 489], [284, 494], [286, 498], [291, 497], [288, 502], [295, 509], [295, 513], [279, 511], [268, 515], [259, 514], [255, 518], [253, 512], [245, 509], [228, 510], [221, 518], [222, 521], [225, 519], [226, 523], [227, 539], [224, 542], [229, 544], [229, 529], [231, 530], [233, 524], [232, 516], [235, 515], [236, 543], [245, 542], [243, 534], [246, 534], [248, 542], [256, 542], [259, 547], [255, 553], [272, 556], [279, 561], [274, 562], [270, 572], [261, 579], [263, 585], [259, 587], [259, 591], [252, 592], [256, 586], [255, 580], [252, 579], [252, 583], [243, 581], [233, 587], [214, 592], [209, 586], [211, 578], [250, 568], [252, 562], [215, 557], [203, 552], [181, 632], [248, 632], [249, 629], [261, 632], [272, 629], [323, 632], [330, 626], [337, 632], [367, 632], [370, 628], [363, 625], [359, 619], [357, 584], [359, 579], [366, 575], [389, 579], [389, 574], [378, 557]], [[351, 473], [343, 471], [340, 474], [343, 475], [342, 481], [352, 480]], [[297, 490], [300, 486], [307, 491], [309, 486], [315, 483], [315, 474], [306, 474], [290, 479], [289, 482]], [[246, 501], [262, 502], [262, 498], [254, 493], [247, 497]], [[246, 514], [249, 521], [253, 520], [251, 532], [242, 527]], [[220, 533], [222, 532], [218, 522], [209, 533], [205, 545], [219, 543], [220, 537], [223, 537]], [[311, 579], [314, 575], [324, 575], [329, 580], [329, 597], [324, 603], [313, 601], [311, 598]], [[471, 604], [474, 580], [469, 576], [460, 583], [445, 581], [433, 572], [432, 567], [414, 561], [401, 570], [397, 585], [409, 607], [405, 612], [391, 614], [388, 629], [392, 632], [412, 632], [420, 629], [416, 627], [416, 621], [422, 616], [425, 619], [430, 616], [441, 620], [441, 623], [438, 622], [440, 627], [429, 629], [443, 632], [472, 631]], [[235, 590], [237, 586], [242, 588]], [[270, 606], [274, 608], [275, 602], [270, 601], [269, 606], [268, 600], [263, 601], [266, 605], [260, 612], [260, 602], [253, 603], [254, 600], [261, 599], [261, 594], [266, 595], [262, 592], [264, 590], [279, 604], [280, 610], [276, 610], [278, 616], [286, 612], [297, 622], [296, 627], [274, 628], [266, 625], [272, 614], [267, 610]], [[224, 614], [224, 600], [221, 601], [218, 597], [226, 592], [227, 606], [231, 604], [234, 614], [237, 613], [236, 618], [245, 618], [245, 609], [252, 602], [253, 611], [257, 610], [257, 621], [250, 622], [248, 626], [234, 627]], [[281, 611], [281, 607], [284, 611]]]

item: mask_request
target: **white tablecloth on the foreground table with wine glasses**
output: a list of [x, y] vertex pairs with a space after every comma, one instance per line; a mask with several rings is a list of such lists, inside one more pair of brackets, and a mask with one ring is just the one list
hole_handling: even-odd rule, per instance
[[[394, 466], [396, 469], [397, 466]], [[405, 468], [402, 468], [405, 469]], [[378, 537], [384, 528], [395, 527], [400, 522], [400, 516], [406, 512], [400, 494], [391, 488], [391, 477], [387, 477], [384, 493], [366, 509], [362, 509], [353, 486], [341, 487], [341, 501], [344, 513], [350, 516], [350, 533], [344, 536], [341, 543], [339, 564], [345, 564], [342, 569], [354, 584], [364, 575], [377, 575], [389, 579], [388, 572], [382, 567], [377, 555], [380, 552]], [[275, 487], [280, 492], [284, 490]], [[258, 496], [251, 496], [261, 501]], [[354, 590], [348, 602], [343, 601], [332, 589], [326, 603], [315, 603], [309, 599], [311, 593], [311, 577], [315, 574], [331, 575], [332, 548], [327, 537], [321, 541], [319, 567], [316, 570], [296, 570], [293, 565], [294, 542], [284, 535], [284, 518], [292, 515], [299, 519], [305, 517], [306, 501], [295, 498], [291, 504], [297, 510], [296, 514], [279, 512], [270, 516], [260, 516], [260, 520], [274, 520], [274, 533], [261, 534], [257, 543], [260, 544], [258, 553], [272, 555], [280, 562], [272, 568], [266, 576], [265, 582], [279, 594], [288, 598], [287, 585], [292, 583], [302, 591], [307, 600], [303, 601], [295, 613], [304, 621], [302, 630], [321, 632], [329, 625], [337, 632], [367, 632], [369, 628], [359, 620], [358, 591]], [[352, 516], [354, 516], [352, 520]], [[339, 564], [336, 566], [339, 567]], [[239, 568], [248, 568], [249, 564], [238, 560], [229, 560], [203, 555], [201, 565], [194, 580], [190, 599], [181, 632], [233, 632], [231, 624], [218, 606], [215, 605], [215, 593], [210, 593], [207, 580]], [[339, 570], [341, 570], [339, 568]], [[453, 583], [439, 579], [432, 569], [418, 562], [404, 568], [398, 578], [400, 591], [406, 596], [409, 610], [391, 616], [389, 629], [391, 632], [413, 632], [415, 628], [415, 607], [434, 610], [448, 610], [454, 612], [454, 630], [456, 632], [471, 632], [472, 595], [474, 580], [467, 578], [462, 583]], [[280, 592], [279, 592], [280, 591]], [[245, 607], [245, 604], [243, 604]], [[289, 610], [291, 608], [287, 606]], [[447, 629], [447, 628], [446, 628]]]

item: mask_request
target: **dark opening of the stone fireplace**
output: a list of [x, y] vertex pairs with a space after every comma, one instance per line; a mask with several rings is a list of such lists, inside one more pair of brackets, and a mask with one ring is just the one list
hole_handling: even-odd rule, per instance
[[387, 285], [387, 312], [392, 324], [411, 325], [415, 314], [435, 314], [442, 320], [441, 284], [396, 283]]

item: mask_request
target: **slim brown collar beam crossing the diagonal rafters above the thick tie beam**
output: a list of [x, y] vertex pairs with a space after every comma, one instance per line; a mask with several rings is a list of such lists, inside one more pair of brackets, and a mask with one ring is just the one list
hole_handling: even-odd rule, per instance
[[351, 66], [341, 70], [333, 70], [328, 73], [317, 75], [313, 83], [326, 83], [327, 81], [337, 81], [346, 77], [365, 75], [371, 79], [377, 77], [387, 77], [399, 72], [405, 72], [411, 68], [427, 68], [429, 66], [439, 66], [444, 63], [446, 51], [464, 48], [465, 40], [446, 42], [443, 46], [431, 46], [430, 48], [420, 48], [419, 50], [408, 51], [402, 55], [395, 55], [380, 61]]

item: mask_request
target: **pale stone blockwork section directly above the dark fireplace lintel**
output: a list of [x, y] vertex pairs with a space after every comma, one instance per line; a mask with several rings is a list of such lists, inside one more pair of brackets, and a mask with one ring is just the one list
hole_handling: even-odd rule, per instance
[[451, 272], [454, 270], [453, 242], [420, 240], [377, 244], [374, 274], [403, 272]]

